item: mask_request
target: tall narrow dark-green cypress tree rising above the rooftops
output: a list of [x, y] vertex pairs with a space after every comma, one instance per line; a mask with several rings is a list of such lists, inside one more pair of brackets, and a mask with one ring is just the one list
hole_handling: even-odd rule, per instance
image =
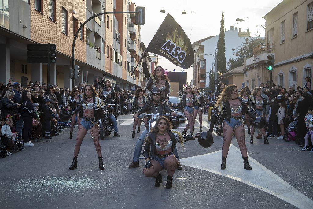
[[217, 42], [217, 70], [222, 74], [226, 72], [224, 13], [222, 13], [221, 29]]

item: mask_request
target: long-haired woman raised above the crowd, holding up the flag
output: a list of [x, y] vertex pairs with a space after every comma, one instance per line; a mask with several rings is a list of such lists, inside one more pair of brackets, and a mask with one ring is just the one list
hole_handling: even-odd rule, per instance
[[[161, 66], [157, 66], [152, 73], [149, 72], [146, 62], [146, 53], [142, 54], [142, 67], [148, 82], [145, 89], [151, 91], [153, 88], [159, 88], [162, 91], [161, 101], [168, 101], [170, 98], [170, 81], [164, 69]], [[151, 98], [152, 99], [152, 98]]]

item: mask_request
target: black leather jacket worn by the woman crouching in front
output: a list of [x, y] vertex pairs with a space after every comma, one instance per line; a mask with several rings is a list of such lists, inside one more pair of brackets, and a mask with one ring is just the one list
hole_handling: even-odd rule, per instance
[[[173, 133], [173, 132], [174, 133]], [[177, 140], [180, 140], [179, 139], [179, 135], [180, 133], [177, 133], [176, 130], [168, 130], [167, 131], [168, 135], [170, 136], [171, 140], [172, 140], [172, 152], [173, 150], [175, 149], [175, 146], [177, 144]], [[185, 138], [185, 139], [182, 139], [183, 141], [189, 141], [189, 140], [193, 140], [191, 138]], [[150, 158], [151, 160], [154, 159], [155, 157], [155, 154], [154, 154], [154, 150], [155, 150], [155, 144], [156, 144], [156, 133], [152, 133], [150, 132], [148, 134], [148, 138], [147, 138], [147, 143], [143, 149], [143, 157], [145, 159], [147, 158]], [[168, 155], [171, 155], [172, 153], [168, 154]]]

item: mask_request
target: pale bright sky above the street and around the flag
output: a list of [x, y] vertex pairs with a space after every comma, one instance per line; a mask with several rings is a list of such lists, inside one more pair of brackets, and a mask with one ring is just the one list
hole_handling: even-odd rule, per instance
[[[224, 28], [229, 30], [235, 26], [241, 31], [251, 33], [251, 36], [261, 33], [265, 36], [265, 19], [263, 18], [271, 9], [282, 0], [132, 0], [137, 7], [145, 7], [145, 25], [141, 26], [141, 41], [147, 47], [156, 30], [162, 24], [167, 13], [170, 13], [182, 27], [191, 43], [211, 35], [218, 35], [221, 27], [222, 12], [224, 12]], [[165, 13], [160, 10], [165, 9]], [[182, 14], [185, 11], [187, 14]], [[247, 21], [238, 22], [236, 18]], [[262, 25], [262, 26], [260, 26]], [[187, 82], [193, 78], [193, 68], [184, 70], [172, 64], [166, 58], [158, 55], [159, 65], [168, 71], [187, 71]], [[192, 65], [193, 66], [193, 65]]]

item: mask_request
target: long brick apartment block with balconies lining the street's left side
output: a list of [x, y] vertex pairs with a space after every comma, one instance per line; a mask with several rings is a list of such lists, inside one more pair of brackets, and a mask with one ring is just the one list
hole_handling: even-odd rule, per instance
[[[7, 1], [1, 2], [6, 4]], [[7, 83], [11, 79], [23, 86], [28, 81], [47, 83], [47, 64], [27, 63], [27, 44], [51, 43], [57, 45], [57, 62], [51, 64], [50, 83], [70, 88], [72, 42], [80, 25], [105, 11], [133, 11], [135, 4], [125, 0], [10, 0], [0, 8], [4, 8], [0, 9], [0, 47], [3, 49], [0, 59], [4, 59], [0, 80]], [[133, 23], [135, 15], [130, 17], [130, 14], [101, 15], [83, 27], [75, 42], [75, 64], [80, 66], [80, 78], [75, 80], [75, 85], [93, 83], [106, 72], [106, 79], [113, 86], [117, 84], [125, 89], [141, 86], [139, 70], [132, 79], [127, 77], [131, 55], [135, 63], [139, 60], [141, 40], [140, 28]], [[129, 24], [136, 28], [132, 35], [136, 47], [131, 53]]]

